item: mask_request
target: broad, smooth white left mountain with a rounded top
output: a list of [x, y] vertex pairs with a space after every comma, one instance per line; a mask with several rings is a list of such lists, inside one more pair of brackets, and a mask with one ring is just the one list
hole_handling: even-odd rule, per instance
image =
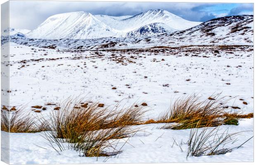
[[56, 14], [46, 19], [28, 38], [44, 39], [84, 39], [116, 35], [116, 31], [87, 12]]

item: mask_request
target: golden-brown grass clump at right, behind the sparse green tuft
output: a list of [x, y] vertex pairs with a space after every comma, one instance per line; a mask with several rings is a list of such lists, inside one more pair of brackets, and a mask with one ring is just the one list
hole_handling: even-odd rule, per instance
[[226, 113], [224, 97], [219, 94], [211, 96], [204, 101], [200, 97], [191, 95], [178, 98], [174, 101], [170, 110], [159, 117], [156, 123], [179, 123], [172, 126], [164, 126], [166, 129], [188, 129], [197, 127], [216, 127], [218, 125], [238, 125], [239, 118], [250, 118], [253, 114], [238, 115], [237, 113]]

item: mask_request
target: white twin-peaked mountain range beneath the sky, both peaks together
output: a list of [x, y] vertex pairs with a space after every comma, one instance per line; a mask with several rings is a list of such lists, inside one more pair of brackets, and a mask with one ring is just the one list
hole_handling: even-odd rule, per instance
[[[156, 33], [162, 33], [165, 31], [164, 29], [166, 31], [179, 31], [199, 24], [201, 22], [187, 21], [161, 9], [149, 10], [135, 16], [108, 16], [92, 15], [87, 12], [70, 12], [50, 16], [26, 36], [28, 38], [52, 40], [125, 37], [140, 36], [130, 34], [143, 29], [145, 29], [145, 32], [141, 32], [141, 34], [155, 35]], [[152, 30], [149, 30], [149, 28]], [[148, 33], [148, 30], [152, 32]]]

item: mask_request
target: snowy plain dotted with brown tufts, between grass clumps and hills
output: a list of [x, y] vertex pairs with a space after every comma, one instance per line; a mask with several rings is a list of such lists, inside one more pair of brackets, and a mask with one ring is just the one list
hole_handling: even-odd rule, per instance
[[155, 118], [177, 97], [199, 94], [207, 99], [222, 92], [226, 99], [235, 97], [228, 106], [253, 112], [251, 47], [78, 53], [11, 43], [10, 50], [10, 106], [31, 109], [81, 95], [109, 106], [145, 101], [151, 109], [147, 117]]

